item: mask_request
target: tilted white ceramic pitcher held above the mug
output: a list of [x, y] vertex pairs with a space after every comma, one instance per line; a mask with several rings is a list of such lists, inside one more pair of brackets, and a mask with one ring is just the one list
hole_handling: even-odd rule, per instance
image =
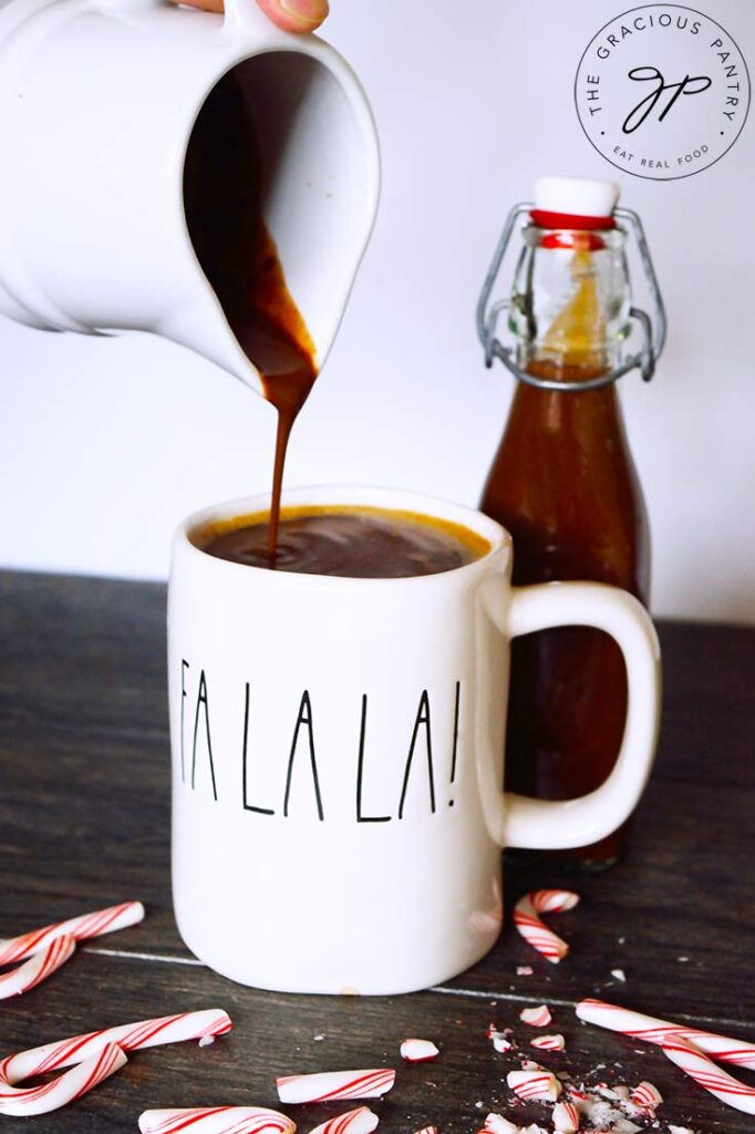
[[0, 9], [1, 312], [46, 330], [153, 331], [260, 389], [183, 202], [193, 125], [241, 61], [263, 217], [322, 364], [374, 220], [375, 129], [343, 59], [254, 0], [226, 0], [224, 16], [163, 0]]

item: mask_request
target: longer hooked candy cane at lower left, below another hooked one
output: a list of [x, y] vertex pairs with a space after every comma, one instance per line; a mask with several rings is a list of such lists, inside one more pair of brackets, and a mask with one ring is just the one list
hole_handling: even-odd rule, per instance
[[[224, 1035], [231, 1026], [227, 1014], [219, 1009], [185, 1012], [19, 1051], [0, 1063], [0, 1114], [44, 1115], [58, 1110], [122, 1067], [127, 1061], [127, 1051], [201, 1040], [206, 1035]], [[71, 1070], [39, 1086], [17, 1086], [24, 1080], [62, 1067], [70, 1067]]]

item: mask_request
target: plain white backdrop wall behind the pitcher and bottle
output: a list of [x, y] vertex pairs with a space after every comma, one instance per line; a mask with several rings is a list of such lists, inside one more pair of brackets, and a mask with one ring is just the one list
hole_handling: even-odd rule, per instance
[[[701, 0], [755, 65], [752, 0]], [[617, 176], [577, 121], [577, 62], [621, 0], [334, 0], [383, 150], [382, 205], [288, 482], [399, 484], [475, 502], [511, 380], [485, 371], [481, 279], [543, 172]], [[753, 112], [755, 118], [755, 111]], [[654, 535], [654, 609], [755, 621], [755, 125], [686, 180], [621, 178], [669, 307], [658, 376], [623, 380]], [[172, 527], [270, 480], [274, 415], [147, 336], [0, 320], [0, 564], [161, 578]]]

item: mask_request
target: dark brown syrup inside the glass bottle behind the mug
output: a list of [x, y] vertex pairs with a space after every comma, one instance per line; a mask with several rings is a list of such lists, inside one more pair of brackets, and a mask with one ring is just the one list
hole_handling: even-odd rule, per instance
[[[565, 382], [600, 373], [527, 369]], [[482, 509], [514, 538], [515, 584], [592, 579], [646, 599], [647, 517], [614, 386], [568, 393], [519, 383]], [[507, 787], [546, 799], [599, 787], [616, 763], [626, 703], [623, 658], [608, 634], [559, 627], [516, 640]], [[620, 841], [617, 832], [580, 857], [612, 860]]]

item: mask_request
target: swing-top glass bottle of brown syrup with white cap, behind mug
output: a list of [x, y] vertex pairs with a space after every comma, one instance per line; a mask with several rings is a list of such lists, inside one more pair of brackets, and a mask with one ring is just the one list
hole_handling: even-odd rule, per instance
[[[507, 305], [515, 367], [529, 381], [517, 383], [481, 507], [514, 538], [515, 584], [589, 579], [647, 603], [647, 514], [616, 382], [601, 382], [621, 366], [630, 328], [617, 197], [604, 183], [538, 183]], [[618, 755], [626, 696], [621, 653], [602, 632], [563, 627], [518, 638], [507, 789], [562, 799], [597, 787]], [[608, 865], [622, 835], [570, 854]]]

